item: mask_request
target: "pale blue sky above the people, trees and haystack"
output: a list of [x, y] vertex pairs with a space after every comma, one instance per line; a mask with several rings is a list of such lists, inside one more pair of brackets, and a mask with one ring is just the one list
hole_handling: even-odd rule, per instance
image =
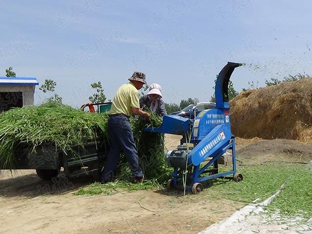
[[[159, 83], [165, 102], [209, 101], [227, 61], [245, 62], [232, 81], [312, 74], [308, 0], [1, 1], [0, 76], [57, 81], [63, 103], [79, 106], [101, 81], [112, 99], [133, 71]], [[49, 97], [38, 87], [35, 103]]]

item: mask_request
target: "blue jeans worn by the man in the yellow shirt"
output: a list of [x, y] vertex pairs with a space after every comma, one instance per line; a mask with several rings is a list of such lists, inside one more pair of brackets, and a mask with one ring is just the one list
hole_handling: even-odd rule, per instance
[[130, 122], [127, 117], [110, 116], [108, 119], [108, 134], [110, 149], [106, 158], [101, 181], [112, 180], [120, 153], [126, 156], [133, 177], [143, 177], [142, 169], [138, 165], [137, 147], [133, 138]]

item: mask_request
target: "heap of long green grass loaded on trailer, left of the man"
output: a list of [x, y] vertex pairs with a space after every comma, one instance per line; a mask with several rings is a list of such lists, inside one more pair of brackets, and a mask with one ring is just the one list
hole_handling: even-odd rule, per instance
[[91, 114], [57, 102], [16, 108], [0, 114], [0, 168], [14, 169], [17, 148], [36, 152], [49, 142], [65, 154], [71, 146], [108, 139], [107, 114]]

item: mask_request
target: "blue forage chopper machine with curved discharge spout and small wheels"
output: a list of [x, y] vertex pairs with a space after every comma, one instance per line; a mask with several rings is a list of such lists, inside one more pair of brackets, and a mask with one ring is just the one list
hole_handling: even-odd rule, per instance
[[[165, 115], [159, 128], [145, 129], [148, 132], [183, 136], [181, 145], [166, 154], [168, 166], [175, 168], [173, 178], [167, 183], [168, 190], [183, 188], [181, 182], [185, 175], [190, 182], [187, 188], [193, 194], [203, 190], [200, 182], [206, 180], [218, 177], [234, 179], [237, 182], [243, 180], [243, 176], [236, 173], [235, 137], [231, 133], [228, 97], [230, 77], [234, 69], [241, 65], [228, 62], [219, 73], [215, 81], [215, 109], [201, 111], [195, 115], [194, 120]], [[227, 151], [231, 151], [233, 168], [231, 171], [219, 173], [218, 159]]]

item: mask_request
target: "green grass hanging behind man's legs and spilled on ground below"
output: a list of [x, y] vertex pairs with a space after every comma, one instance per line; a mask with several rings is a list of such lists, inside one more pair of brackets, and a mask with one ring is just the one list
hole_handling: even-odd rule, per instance
[[117, 189], [126, 189], [127, 191], [147, 190], [158, 187], [162, 189], [170, 175], [172, 168], [169, 168], [165, 162], [164, 156], [164, 136], [159, 133], [144, 132], [144, 128], [159, 127], [162, 118], [153, 114], [149, 120], [141, 117], [131, 117], [130, 123], [135, 138], [139, 165], [144, 171], [144, 182], [133, 184], [129, 182], [131, 171], [129, 163], [125, 156], [121, 156], [117, 169], [115, 171], [115, 181], [100, 184], [92, 183], [87, 188], [79, 189], [75, 195], [96, 195], [96, 194], [112, 194]]

